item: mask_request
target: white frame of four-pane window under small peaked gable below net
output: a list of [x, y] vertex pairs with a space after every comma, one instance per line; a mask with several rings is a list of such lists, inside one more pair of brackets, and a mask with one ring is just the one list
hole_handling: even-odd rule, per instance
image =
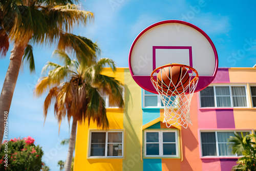
[[[150, 143], [158, 143], [159, 144], [159, 155], [146, 155], [146, 133], [156, 133], [158, 132], [158, 142], [150, 142]], [[167, 133], [175, 133], [175, 142], [173, 144], [176, 145], [176, 155], [163, 155], [163, 144], [170, 142], [163, 142], [163, 134], [164, 132]], [[144, 157], [154, 157], [154, 158], [166, 158], [166, 157], [179, 157], [179, 144], [178, 144], [178, 130], [145, 130], [144, 131]]]

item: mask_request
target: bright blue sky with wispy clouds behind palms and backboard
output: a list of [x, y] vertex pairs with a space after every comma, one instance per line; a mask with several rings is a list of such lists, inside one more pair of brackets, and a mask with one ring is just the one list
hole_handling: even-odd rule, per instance
[[[128, 54], [135, 37], [146, 27], [167, 19], [179, 19], [201, 28], [214, 42], [219, 67], [253, 67], [256, 63], [255, 1], [135, 1], [88, 0], [81, 1], [84, 10], [95, 14], [94, 22], [74, 29], [97, 41], [102, 53], [118, 67], [128, 67]], [[23, 66], [16, 83], [9, 111], [9, 138], [32, 136], [42, 146], [44, 161], [51, 170], [58, 170], [58, 160], [66, 160], [68, 146], [59, 145], [69, 138], [70, 127], [63, 121], [58, 135], [58, 124], [53, 110], [45, 125], [42, 104], [46, 95], [35, 98], [34, 86], [41, 69], [51, 58], [54, 47], [33, 46], [35, 74]], [[5, 58], [0, 58], [0, 89], [9, 66], [12, 47]], [[72, 123], [72, 122], [71, 122]]]

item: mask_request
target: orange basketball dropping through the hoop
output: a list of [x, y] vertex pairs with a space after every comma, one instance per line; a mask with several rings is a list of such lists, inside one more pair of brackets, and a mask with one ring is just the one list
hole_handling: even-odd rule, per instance
[[162, 89], [168, 95], [180, 94], [186, 91], [184, 89], [189, 83], [189, 75], [184, 67], [165, 67], [157, 74], [157, 82], [158, 89]]

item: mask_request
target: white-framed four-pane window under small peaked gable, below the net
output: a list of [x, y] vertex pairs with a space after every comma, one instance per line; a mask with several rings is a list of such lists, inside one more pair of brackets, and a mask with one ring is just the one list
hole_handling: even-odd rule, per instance
[[145, 131], [145, 157], [178, 157], [177, 131]]

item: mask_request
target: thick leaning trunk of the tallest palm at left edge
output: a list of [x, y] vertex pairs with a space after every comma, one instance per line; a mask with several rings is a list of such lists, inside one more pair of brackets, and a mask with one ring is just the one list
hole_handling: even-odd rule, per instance
[[[10, 64], [5, 76], [4, 86], [0, 96], [0, 140], [1, 142], [4, 136], [4, 123], [5, 123], [4, 114], [7, 112], [9, 114], [9, 110], [12, 102], [12, 95], [14, 92], [16, 81], [18, 78], [20, 64], [22, 63], [22, 57], [24, 55], [26, 46], [27, 46], [26, 42], [25, 44], [22, 44], [22, 45], [14, 44], [14, 47], [11, 51]], [[7, 138], [5, 137], [5, 139]]]

